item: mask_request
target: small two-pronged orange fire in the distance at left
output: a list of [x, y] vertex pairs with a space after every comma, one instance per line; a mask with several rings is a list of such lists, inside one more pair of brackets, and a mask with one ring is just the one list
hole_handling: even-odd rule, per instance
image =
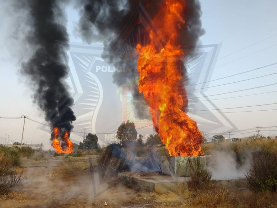
[[57, 127], [54, 127], [53, 131], [53, 143], [52, 146], [55, 148], [56, 153], [72, 153], [73, 152], [73, 142], [70, 141], [68, 137], [68, 132], [65, 132], [63, 142], [65, 148], [60, 145], [59, 137], [59, 130]]

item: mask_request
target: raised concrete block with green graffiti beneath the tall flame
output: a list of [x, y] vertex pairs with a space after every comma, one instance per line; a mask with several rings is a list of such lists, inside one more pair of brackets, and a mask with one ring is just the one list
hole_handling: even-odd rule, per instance
[[177, 177], [189, 176], [189, 161], [192, 164], [199, 159], [200, 165], [206, 167], [206, 155], [203, 156], [162, 156], [161, 172], [166, 175]]

